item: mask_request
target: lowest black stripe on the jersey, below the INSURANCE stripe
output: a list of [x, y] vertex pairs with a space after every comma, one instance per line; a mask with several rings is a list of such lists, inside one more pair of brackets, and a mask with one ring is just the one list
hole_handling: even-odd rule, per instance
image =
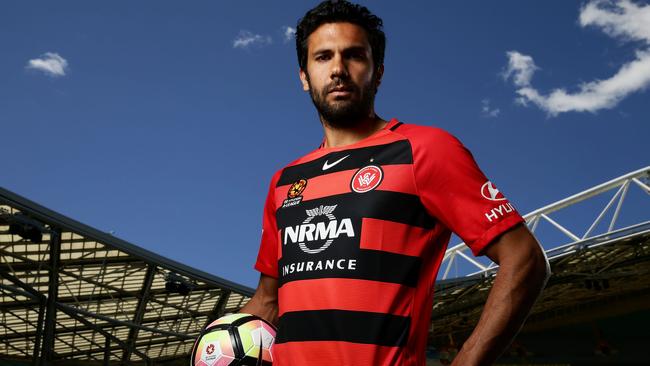
[[410, 327], [409, 317], [392, 314], [347, 310], [294, 311], [280, 317], [275, 342], [343, 341], [401, 347], [408, 341]]

